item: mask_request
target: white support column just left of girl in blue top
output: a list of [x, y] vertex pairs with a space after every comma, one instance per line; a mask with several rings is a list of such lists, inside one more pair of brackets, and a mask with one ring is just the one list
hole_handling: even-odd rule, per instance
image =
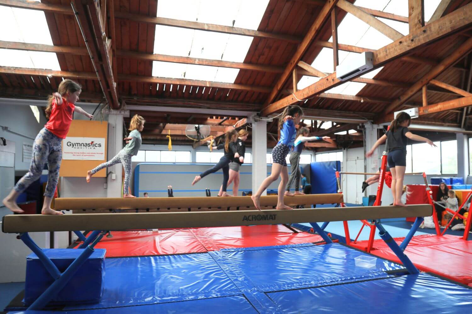
[[[267, 177], [267, 122], [253, 122], [253, 194]], [[267, 195], [266, 191], [262, 195]]]

